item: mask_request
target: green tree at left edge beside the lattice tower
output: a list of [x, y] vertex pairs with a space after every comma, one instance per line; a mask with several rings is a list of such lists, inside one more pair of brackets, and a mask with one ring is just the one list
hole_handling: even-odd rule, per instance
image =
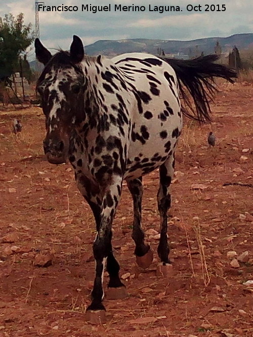
[[19, 56], [33, 40], [31, 24], [24, 24], [24, 15], [0, 17], [0, 75], [8, 76], [18, 68]]

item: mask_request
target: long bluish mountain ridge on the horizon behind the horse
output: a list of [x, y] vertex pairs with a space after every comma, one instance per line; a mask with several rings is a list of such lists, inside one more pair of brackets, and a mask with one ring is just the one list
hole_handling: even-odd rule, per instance
[[[159, 40], [148, 38], [130, 38], [124, 40], [99, 40], [94, 44], [85, 47], [88, 55], [119, 55], [123, 53], [150, 53], [157, 54], [161, 49], [165, 54], [184, 54], [196, 56], [201, 52], [206, 54], [214, 53], [215, 45], [219, 42], [222, 53], [230, 52], [234, 46], [239, 51], [253, 48], [253, 33], [235, 34], [228, 37], [206, 37], [196, 40]], [[30, 67], [36, 69], [36, 61], [30, 62]], [[41, 65], [41, 69], [43, 66]]]

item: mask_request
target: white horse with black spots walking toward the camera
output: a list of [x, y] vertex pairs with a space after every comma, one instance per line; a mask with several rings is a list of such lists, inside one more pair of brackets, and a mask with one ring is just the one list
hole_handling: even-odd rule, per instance
[[52, 56], [39, 39], [35, 40], [35, 51], [45, 65], [37, 81], [46, 116], [45, 154], [53, 164], [70, 161], [77, 187], [96, 221], [95, 280], [87, 313], [91, 320], [104, 321], [106, 263], [109, 297], [123, 298], [126, 294], [111, 243], [123, 180], [133, 197], [135, 255], [145, 268], [152, 262], [152, 251], [141, 226], [142, 177], [159, 168], [157, 252], [163, 268], [170, 267], [167, 210], [183, 115], [208, 121], [208, 101], [216, 91], [214, 78], [233, 82], [236, 73], [217, 64], [216, 55], [185, 61], [141, 53], [112, 59], [90, 57], [75, 35], [69, 52]]

